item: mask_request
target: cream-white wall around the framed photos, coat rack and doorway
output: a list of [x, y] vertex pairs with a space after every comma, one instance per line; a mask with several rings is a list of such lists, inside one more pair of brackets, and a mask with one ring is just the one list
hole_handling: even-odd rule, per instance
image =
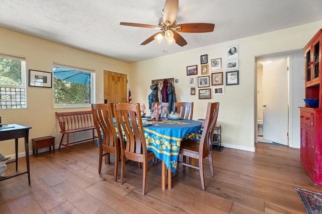
[[[149, 86], [152, 79], [179, 78], [179, 84], [175, 84], [177, 100], [194, 102], [193, 119], [205, 117], [207, 102], [220, 102], [217, 124], [222, 127], [221, 139], [223, 145], [254, 151], [255, 93], [257, 93], [255, 86], [255, 57], [302, 49], [320, 29], [321, 25], [322, 21], [319, 21], [133, 63], [131, 64], [131, 69], [135, 72], [135, 75], [133, 75], [133, 79], [129, 83], [132, 101], [148, 103], [147, 97], [151, 92]], [[239, 48], [239, 85], [225, 86], [224, 96], [212, 96], [210, 100], [199, 100], [198, 90], [196, 96], [191, 96], [190, 88], [187, 86], [186, 67], [198, 65], [198, 76], [200, 76], [200, 56], [208, 54], [208, 63], [211, 59], [222, 58], [224, 71], [226, 48], [232, 45], [238, 45]], [[160, 46], [160, 50], [162, 48]], [[303, 66], [304, 56], [300, 61]], [[304, 69], [302, 74], [304, 74]], [[301, 77], [297, 75], [293, 76], [295, 84], [304, 86], [304, 82], [300, 79]], [[296, 93], [300, 90], [302, 89], [296, 88]], [[292, 93], [293, 97], [298, 96], [296, 93]], [[301, 93], [304, 93], [303, 90]], [[292, 122], [295, 127], [299, 127], [299, 110], [296, 109], [298, 103], [293, 104]], [[292, 145], [299, 147], [299, 139], [295, 137], [294, 140], [296, 142], [292, 142]]]

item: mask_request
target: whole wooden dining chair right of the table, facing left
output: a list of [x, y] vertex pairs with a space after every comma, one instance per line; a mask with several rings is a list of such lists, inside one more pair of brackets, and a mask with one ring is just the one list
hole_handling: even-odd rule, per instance
[[198, 159], [198, 166], [190, 164], [190, 162], [186, 163], [186, 158], [183, 158], [183, 161], [178, 161], [178, 163], [183, 164], [184, 166], [199, 169], [201, 186], [203, 190], [205, 190], [203, 159], [206, 157], [208, 157], [209, 159], [211, 176], [214, 176], [212, 164], [212, 137], [217, 122], [218, 111], [219, 102], [209, 102], [207, 106], [205, 125], [201, 134], [200, 142], [187, 139], [182, 141], [180, 146], [179, 154], [184, 155], [184, 157], [187, 156]]

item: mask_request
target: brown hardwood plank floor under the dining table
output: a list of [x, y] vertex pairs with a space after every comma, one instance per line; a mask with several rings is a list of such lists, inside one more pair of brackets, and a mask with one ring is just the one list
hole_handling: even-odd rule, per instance
[[[113, 181], [114, 164], [98, 173], [92, 142], [65, 151], [30, 156], [30, 186], [26, 174], [0, 182], [0, 213], [306, 213], [295, 188], [322, 192], [302, 167], [299, 149], [286, 146], [213, 152], [214, 177], [204, 160], [205, 191], [199, 171], [188, 167], [180, 167], [173, 188], [163, 191], [158, 166], [148, 173], [144, 196], [137, 163], [126, 165], [121, 185]], [[20, 158], [18, 171], [25, 167]], [[6, 174], [13, 173], [15, 164], [9, 164]]]

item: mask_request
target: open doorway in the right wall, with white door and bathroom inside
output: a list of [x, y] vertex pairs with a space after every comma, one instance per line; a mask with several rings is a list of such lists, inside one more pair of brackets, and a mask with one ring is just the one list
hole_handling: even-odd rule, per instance
[[289, 145], [289, 58], [257, 58], [257, 142]]

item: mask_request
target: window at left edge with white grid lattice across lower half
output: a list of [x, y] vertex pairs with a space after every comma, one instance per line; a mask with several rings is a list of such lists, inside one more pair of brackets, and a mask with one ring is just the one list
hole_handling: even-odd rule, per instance
[[26, 107], [26, 61], [0, 54], [0, 109]]

